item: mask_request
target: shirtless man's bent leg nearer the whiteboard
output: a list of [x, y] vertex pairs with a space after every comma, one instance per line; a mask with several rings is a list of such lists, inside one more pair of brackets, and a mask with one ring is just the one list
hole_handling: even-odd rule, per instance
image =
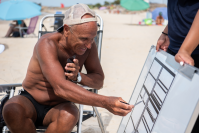
[[61, 103], [46, 114], [43, 124], [45, 133], [70, 133], [79, 119], [79, 110], [71, 102]]

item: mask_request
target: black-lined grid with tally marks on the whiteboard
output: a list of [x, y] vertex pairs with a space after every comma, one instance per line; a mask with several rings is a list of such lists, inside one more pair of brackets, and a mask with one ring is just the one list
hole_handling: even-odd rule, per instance
[[137, 99], [143, 102], [131, 112], [124, 133], [152, 131], [174, 78], [175, 74], [155, 58]]

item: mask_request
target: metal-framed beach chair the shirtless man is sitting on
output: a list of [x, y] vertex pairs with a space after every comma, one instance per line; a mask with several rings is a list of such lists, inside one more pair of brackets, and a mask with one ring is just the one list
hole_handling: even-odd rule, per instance
[[[46, 18], [49, 18], [49, 17], [64, 17], [64, 15], [63, 14], [50, 14], [50, 15], [44, 16], [40, 21], [38, 38], [40, 38], [42, 35], [44, 35], [46, 33], [52, 32], [52, 31], [47, 31], [46, 29], [45, 29], [45, 31], [42, 30], [43, 27], [45, 27], [44, 24], [43, 24], [43, 21]], [[102, 45], [102, 37], [103, 37], [103, 19], [99, 15], [97, 15], [97, 17], [99, 18], [99, 23], [98, 23], [97, 36], [95, 37], [95, 42], [96, 42], [97, 50], [98, 50], [98, 57], [99, 57], [99, 60], [101, 60], [101, 45]], [[5, 98], [3, 98], [3, 100], [5, 101], [6, 98], [8, 99], [8, 98], [13, 97], [16, 87], [21, 87], [21, 86], [22, 86], [22, 84], [0, 84], [0, 91], [6, 92], [6, 95], [4, 96]], [[88, 88], [86, 86], [82, 86], [82, 87]], [[91, 91], [93, 93], [98, 93], [98, 90], [96, 90], [96, 89], [89, 88], [87, 90]], [[1, 100], [1, 101], [3, 101], [3, 100]], [[77, 133], [81, 133], [82, 122], [89, 119], [90, 117], [97, 117], [99, 127], [100, 127], [102, 133], [105, 133], [104, 125], [103, 125], [101, 116], [100, 116], [97, 108], [92, 107], [93, 110], [90, 111], [90, 110], [83, 110], [83, 106], [84, 105], [79, 104], [79, 121], [77, 123]], [[3, 127], [3, 129], [2, 129], [3, 133], [6, 133], [7, 131], [9, 131], [9, 129], [6, 127], [6, 125], [3, 121], [0, 122], [0, 127]], [[39, 131], [39, 132], [45, 132], [46, 127], [36, 127], [36, 130]]]

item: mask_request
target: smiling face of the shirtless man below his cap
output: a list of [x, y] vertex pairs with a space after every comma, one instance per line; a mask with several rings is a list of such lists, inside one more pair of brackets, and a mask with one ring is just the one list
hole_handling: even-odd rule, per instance
[[91, 49], [97, 34], [97, 23], [88, 22], [70, 27], [67, 42], [77, 55], [83, 55], [87, 49]]

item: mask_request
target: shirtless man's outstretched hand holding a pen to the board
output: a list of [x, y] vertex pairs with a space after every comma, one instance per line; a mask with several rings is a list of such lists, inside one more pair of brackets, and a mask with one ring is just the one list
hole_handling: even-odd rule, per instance
[[126, 116], [132, 111], [133, 105], [128, 105], [122, 102], [125, 102], [120, 97], [108, 97], [108, 99], [103, 103], [104, 108], [115, 115]]

